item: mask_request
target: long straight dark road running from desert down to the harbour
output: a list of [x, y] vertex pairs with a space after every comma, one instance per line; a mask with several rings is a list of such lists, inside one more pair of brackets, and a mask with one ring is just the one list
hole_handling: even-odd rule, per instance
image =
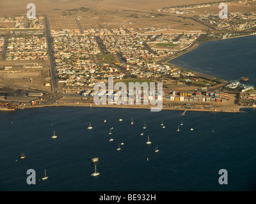
[[45, 36], [47, 39], [48, 53], [49, 53], [49, 61], [50, 61], [50, 74], [51, 74], [51, 84], [52, 84], [52, 92], [61, 92], [61, 88], [58, 85], [56, 67], [54, 63], [54, 50], [52, 48], [52, 36], [51, 29], [49, 25], [49, 20], [47, 17], [44, 17], [45, 24]]

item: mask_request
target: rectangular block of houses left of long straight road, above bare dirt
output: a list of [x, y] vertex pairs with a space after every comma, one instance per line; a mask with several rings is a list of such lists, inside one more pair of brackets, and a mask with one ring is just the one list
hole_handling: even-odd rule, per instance
[[10, 37], [6, 60], [49, 59], [45, 37]]

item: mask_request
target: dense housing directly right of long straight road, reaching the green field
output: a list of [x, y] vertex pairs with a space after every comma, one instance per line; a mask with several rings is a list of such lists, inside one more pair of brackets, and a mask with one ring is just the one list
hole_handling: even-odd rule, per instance
[[95, 36], [108, 34], [105, 29], [89, 29], [83, 33], [77, 29], [63, 29], [51, 33], [56, 71], [61, 79], [59, 84], [63, 87], [71, 87], [70, 92], [76, 90], [76, 87], [93, 87], [96, 82], [104, 78], [123, 76], [123, 73], [111, 68], [109, 64], [100, 64], [93, 60], [92, 55], [96, 58], [96, 55], [100, 54]]

